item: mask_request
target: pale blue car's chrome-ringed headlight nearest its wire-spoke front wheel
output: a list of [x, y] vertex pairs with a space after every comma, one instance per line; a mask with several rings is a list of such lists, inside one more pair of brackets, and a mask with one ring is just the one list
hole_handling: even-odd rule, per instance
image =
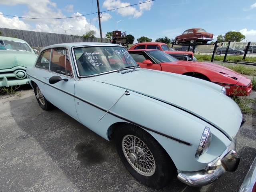
[[197, 157], [201, 156], [202, 154], [204, 154], [208, 150], [208, 148], [211, 144], [211, 140], [212, 140], [212, 133], [210, 131], [210, 128], [205, 127], [204, 132], [203, 132], [202, 137], [201, 137], [201, 140], [200, 140], [200, 143], [199, 143], [198, 148], [196, 150], [196, 156]]

